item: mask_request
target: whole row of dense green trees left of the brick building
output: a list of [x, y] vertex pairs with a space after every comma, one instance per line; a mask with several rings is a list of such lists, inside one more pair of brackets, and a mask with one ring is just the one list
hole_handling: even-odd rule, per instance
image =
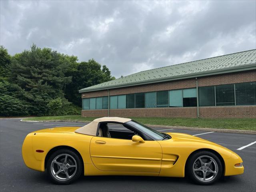
[[78, 62], [35, 44], [11, 56], [0, 46], [0, 116], [80, 114], [78, 90], [113, 79], [94, 59]]

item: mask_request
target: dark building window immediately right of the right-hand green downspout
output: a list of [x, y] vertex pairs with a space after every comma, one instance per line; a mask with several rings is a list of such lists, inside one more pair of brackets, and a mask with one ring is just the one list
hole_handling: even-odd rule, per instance
[[215, 106], [214, 86], [199, 87], [199, 106]]

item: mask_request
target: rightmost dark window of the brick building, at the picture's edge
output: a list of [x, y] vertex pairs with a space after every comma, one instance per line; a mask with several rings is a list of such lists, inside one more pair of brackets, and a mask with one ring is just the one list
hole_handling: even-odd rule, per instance
[[238, 83], [236, 87], [236, 105], [256, 105], [256, 82]]

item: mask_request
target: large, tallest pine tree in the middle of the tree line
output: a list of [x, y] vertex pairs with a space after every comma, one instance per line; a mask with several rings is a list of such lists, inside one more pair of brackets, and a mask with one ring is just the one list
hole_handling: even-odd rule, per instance
[[65, 76], [69, 62], [65, 55], [34, 44], [13, 56], [9, 78], [21, 90], [16, 98], [30, 103], [29, 114], [45, 115], [52, 99], [64, 98], [64, 87], [71, 82]]

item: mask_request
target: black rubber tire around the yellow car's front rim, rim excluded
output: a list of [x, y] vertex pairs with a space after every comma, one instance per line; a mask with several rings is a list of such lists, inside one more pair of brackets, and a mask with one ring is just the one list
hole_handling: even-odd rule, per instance
[[[212, 158], [214, 158], [214, 160], [216, 160], [216, 162], [218, 164], [218, 174], [217, 174], [217, 176], [213, 180], [211, 180], [209, 182], [203, 182], [203, 181], [199, 180], [198, 178], [196, 178], [196, 176], [194, 175], [194, 172], [193, 172], [195, 160], [198, 157], [204, 156], [204, 155], [211, 156]], [[222, 162], [220, 161], [220, 158], [216, 154], [214, 154], [214, 153], [212, 153], [210, 151], [200, 151], [200, 152], [197, 152], [195, 154], [192, 154], [192, 156], [188, 159], [188, 164], [186, 165], [186, 175], [188, 175], [188, 178], [193, 180], [197, 184], [200, 184], [200, 185], [210, 185], [210, 184], [213, 184], [216, 181], [218, 181], [220, 179], [220, 177], [223, 175]]]

